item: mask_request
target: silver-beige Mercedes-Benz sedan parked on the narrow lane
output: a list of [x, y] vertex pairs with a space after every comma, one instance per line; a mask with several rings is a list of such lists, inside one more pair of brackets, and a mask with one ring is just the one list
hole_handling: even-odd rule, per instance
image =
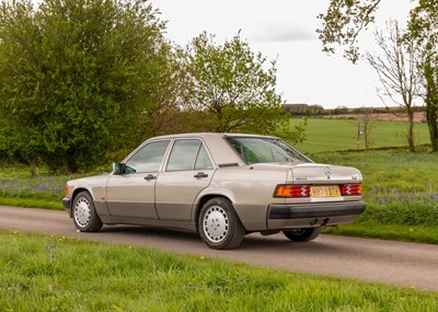
[[138, 224], [197, 231], [211, 249], [251, 232], [304, 242], [364, 210], [357, 169], [318, 164], [276, 137], [186, 134], [147, 140], [107, 175], [69, 181], [77, 229]]

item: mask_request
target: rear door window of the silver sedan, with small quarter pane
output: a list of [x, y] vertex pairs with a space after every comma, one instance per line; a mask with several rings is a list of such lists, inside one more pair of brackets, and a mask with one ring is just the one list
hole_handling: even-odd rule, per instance
[[212, 169], [212, 163], [200, 140], [177, 140], [173, 145], [166, 171]]

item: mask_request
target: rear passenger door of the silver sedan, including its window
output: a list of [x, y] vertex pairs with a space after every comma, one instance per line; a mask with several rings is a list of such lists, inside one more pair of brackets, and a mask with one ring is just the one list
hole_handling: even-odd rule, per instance
[[199, 139], [175, 140], [157, 178], [155, 207], [160, 219], [189, 221], [196, 196], [210, 184], [214, 163]]

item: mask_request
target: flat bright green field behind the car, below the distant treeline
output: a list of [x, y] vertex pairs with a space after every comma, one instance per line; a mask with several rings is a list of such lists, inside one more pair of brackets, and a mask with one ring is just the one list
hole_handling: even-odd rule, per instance
[[[291, 118], [291, 125], [298, 125], [301, 119]], [[370, 131], [370, 148], [405, 147], [406, 122], [372, 122]], [[357, 143], [357, 120], [309, 118], [306, 129], [307, 140], [297, 143], [302, 152], [343, 151], [364, 149], [364, 138]], [[427, 124], [416, 123], [414, 126], [416, 145], [429, 143]]]

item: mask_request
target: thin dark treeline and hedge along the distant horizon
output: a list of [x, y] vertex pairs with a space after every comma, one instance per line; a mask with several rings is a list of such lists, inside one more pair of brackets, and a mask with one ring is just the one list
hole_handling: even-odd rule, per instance
[[[330, 116], [344, 114], [383, 114], [383, 113], [405, 113], [404, 107], [356, 107], [337, 106], [336, 108], [325, 109], [321, 105], [309, 104], [284, 104], [285, 112], [291, 116]], [[415, 112], [426, 112], [424, 106], [413, 107]]]

